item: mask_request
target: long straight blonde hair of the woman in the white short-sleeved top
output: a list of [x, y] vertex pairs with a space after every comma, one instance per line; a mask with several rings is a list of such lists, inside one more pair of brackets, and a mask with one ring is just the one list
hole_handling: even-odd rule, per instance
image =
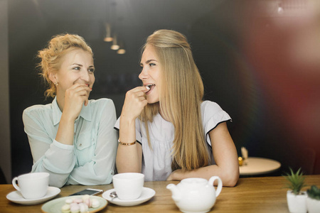
[[[147, 122], [161, 109], [161, 114], [174, 124], [172, 170], [193, 170], [208, 165], [208, 148], [203, 137], [201, 102], [203, 82], [193, 60], [191, 47], [184, 35], [176, 31], [155, 31], [146, 40], [152, 45], [161, 65], [159, 102], [147, 104], [140, 119]], [[149, 142], [151, 148], [151, 144]]]

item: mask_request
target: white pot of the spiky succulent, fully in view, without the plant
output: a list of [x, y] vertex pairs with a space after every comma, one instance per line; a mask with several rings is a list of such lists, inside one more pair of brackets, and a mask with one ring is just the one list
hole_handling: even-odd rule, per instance
[[302, 195], [294, 195], [291, 190], [287, 191], [289, 212], [306, 213], [306, 192], [301, 193]]

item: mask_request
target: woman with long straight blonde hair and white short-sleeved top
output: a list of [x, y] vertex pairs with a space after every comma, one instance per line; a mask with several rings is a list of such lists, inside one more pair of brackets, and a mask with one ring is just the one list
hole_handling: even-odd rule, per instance
[[117, 170], [144, 173], [146, 181], [218, 175], [225, 186], [239, 178], [238, 155], [215, 102], [203, 102], [203, 82], [181, 33], [155, 31], [140, 62], [142, 87], [127, 92], [119, 129]]

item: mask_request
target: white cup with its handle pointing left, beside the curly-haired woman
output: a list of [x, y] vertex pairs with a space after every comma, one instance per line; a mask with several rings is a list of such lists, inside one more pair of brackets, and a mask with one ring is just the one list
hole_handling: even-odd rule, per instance
[[[12, 180], [12, 185], [27, 200], [44, 197], [49, 186], [49, 173], [28, 173]], [[16, 181], [18, 180], [18, 185]]]

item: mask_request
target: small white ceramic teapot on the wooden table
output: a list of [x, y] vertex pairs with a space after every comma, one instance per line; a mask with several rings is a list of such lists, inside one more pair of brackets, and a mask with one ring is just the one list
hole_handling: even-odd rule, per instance
[[[213, 187], [215, 180], [218, 180], [216, 191]], [[222, 180], [218, 176], [211, 177], [209, 181], [204, 178], [186, 178], [166, 188], [171, 190], [172, 199], [181, 212], [209, 212], [222, 190]]]

